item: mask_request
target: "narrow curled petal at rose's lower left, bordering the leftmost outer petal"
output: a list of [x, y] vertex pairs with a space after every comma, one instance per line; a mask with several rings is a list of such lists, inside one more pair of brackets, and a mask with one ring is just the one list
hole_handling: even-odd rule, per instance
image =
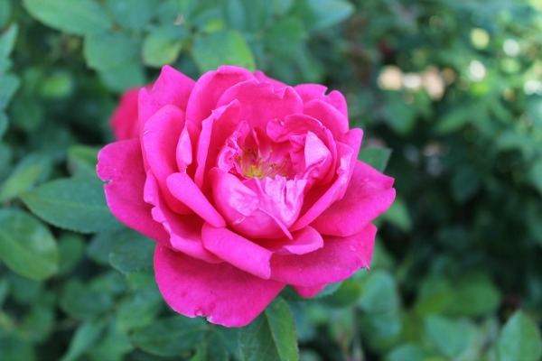
[[203, 219], [194, 214], [182, 216], [173, 213], [164, 204], [158, 183], [150, 171], [145, 181], [144, 197], [145, 202], [154, 206], [152, 209], [153, 219], [162, 224], [169, 233], [169, 243], [174, 250], [213, 264], [222, 262], [219, 257], [211, 254], [203, 247], [201, 242]]

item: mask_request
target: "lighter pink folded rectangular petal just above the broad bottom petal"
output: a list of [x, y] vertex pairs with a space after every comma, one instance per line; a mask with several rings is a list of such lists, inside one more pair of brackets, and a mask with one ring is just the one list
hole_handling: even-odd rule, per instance
[[227, 228], [212, 227], [208, 223], [203, 224], [201, 239], [207, 250], [238, 269], [264, 280], [271, 276], [269, 260], [273, 253], [266, 248]]

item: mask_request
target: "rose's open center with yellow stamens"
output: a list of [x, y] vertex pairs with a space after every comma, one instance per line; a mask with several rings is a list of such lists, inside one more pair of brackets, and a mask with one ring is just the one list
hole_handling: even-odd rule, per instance
[[243, 175], [247, 178], [263, 180], [266, 177], [274, 179], [277, 175], [288, 178], [287, 160], [273, 162], [273, 149], [269, 150], [266, 157], [254, 149], [243, 148], [240, 155], [235, 157]]

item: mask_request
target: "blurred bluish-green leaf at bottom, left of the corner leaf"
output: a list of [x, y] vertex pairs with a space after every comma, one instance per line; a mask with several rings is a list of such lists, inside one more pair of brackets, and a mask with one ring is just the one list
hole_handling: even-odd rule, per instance
[[436, 315], [425, 318], [425, 336], [446, 358], [462, 354], [472, 337], [465, 324]]

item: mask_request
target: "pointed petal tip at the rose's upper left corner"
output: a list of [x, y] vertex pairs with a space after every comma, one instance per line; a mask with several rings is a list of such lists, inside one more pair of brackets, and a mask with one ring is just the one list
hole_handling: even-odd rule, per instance
[[186, 110], [188, 98], [192, 94], [195, 84], [194, 80], [169, 65], [165, 65], [154, 83], [151, 95], [162, 106], [171, 104]]

